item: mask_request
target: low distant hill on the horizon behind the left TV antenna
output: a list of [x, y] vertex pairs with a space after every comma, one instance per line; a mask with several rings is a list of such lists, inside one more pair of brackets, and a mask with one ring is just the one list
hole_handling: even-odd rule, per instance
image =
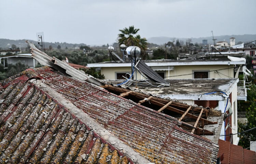
[[[0, 39], [0, 48], [5, 49], [9, 48], [12, 45], [16, 45], [17, 47], [20, 47], [22, 49], [25, 49], [27, 47], [26, 40], [28, 39], [22, 39], [22, 40], [11, 40], [11, 39]], [[38, 45], [37, 41], [34, 40], [28, 40], [31, 43], [34, 43], [36, 46]], [[49, 42], [44, 42], [44, 47], [49, 48], [49, 46], [52, 46], [53, 48], [57, 48], [58, 45], [60, 45], [61, 49], [65, 49], [66, 47], [68, 48], [74, 48], [74, 47], [80, 47], [80, 46], [86, 46], [86, 44], [71, 44], [71, 43], [49, 43]]]

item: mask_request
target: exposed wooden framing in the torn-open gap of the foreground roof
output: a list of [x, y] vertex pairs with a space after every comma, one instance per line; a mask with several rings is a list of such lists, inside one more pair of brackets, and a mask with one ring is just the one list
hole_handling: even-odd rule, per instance
[[207, 119], [209, 113], [208, 109], [157, 98], [151, 95], [134, 92], [129, 89], [114, 87], [112, 85], [103, 85], [101, 87], [126, 99], [132, 99], [140, 105], [165, 113], [172, 117], [176, 117], [179, 119], [179, 121], [182, 121], [181, 127], [183, 127], [186, 131], [195, 133], [197, 135], [214, 134], [211, 131], [203, 129], [204, 125], [217, 124], [217, 122]]

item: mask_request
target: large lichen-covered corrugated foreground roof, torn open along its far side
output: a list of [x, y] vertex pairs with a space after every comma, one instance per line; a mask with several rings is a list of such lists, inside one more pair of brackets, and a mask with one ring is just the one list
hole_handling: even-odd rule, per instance
[[[13, 147], [12, 144], [17, 145], [15, 150], [10, 151], [12, 152], [11, 155], [5, 153], [6, 150], [3, 150], [1, 151], [0, 156], [9, 155], [10, 157], [17, 158], [17, 161], [27, 161], [30, 160], [33, 157], [33, 154], [36, 154], [36, 151], [38, 150], [42, 156], [41, 158], [35, 158], [36, 162], [40, 162], [42, 158], [50, 159], [50, 161], [53, 162], [55, 162], [55, 159], [59, 160], [60, 162], [64, 162], [68, 155], [73, 154], [74, 157], [72, 157], [72, 161], [75, 159], [75, 157], [81, 157], [81, 154], [84, 154], [82, 155], [82, 158], [85, 158], [83, 158], [83, 160], [87, 160], [87, 158], [90, 156], [90, 152], [86, 151], [86, 153], [80, 153], [79, 156], [79, 154], [76, 154], [79, 153], [78, 151], [71, 151], [71, 149], [73, 149], [72, 145], [76, 145], [81, 141], [86, 141], [85, 137], [83, 138], [77, 136], [79, 132], [84, 132], [87, 135], [93, 133], [93, 138], [96, 138], [93, 139], [93, 145], [98, 145], [96, 144], [96, 140], [100, 140], [103, 143], [100, 143], [101, 146], [96, 146], [97, 148], [95, 149], [97, 150], [97, 153], [94, 154], [97, 155], [94, 156], [94, 162], [92, 163], [99, 162], [100, 157], [106, 161], [109, 161], [113, 154], [116, 154], [113, 157], [116, 157], [119, 162], [123, 159], [126, 159], [124, 161], [139, 164], [150, 162], [216, 163], [218, 145], [211, 142], [207, 138], [193, 134], [200, 133], [200, 128], [198, 128], [197, 125], [200, 120], [202, 122], [208, 122], [208, 124], [215, 124], [215, 122], [211, 122], [206, 119], [208, 110], [200, 109], [190, 105], [185, 105], [184, 108], [184, 105], [182, 104], [174, 102], [172, 103], [170, 100], [163, 100], [158, 98], [155, 99], [152, 96], [148, 96], [146, 99], [144, 97], [144, 99], [140, 100], [139, 102], [128, 100], [124, 97], [127, 94], [129, 95], [129, 93], [123, 93], [122, 96], [115, 95], [97, 85], [111, 88], [110, 86], [106, 86], [104, 83], [101, 83], [96, 79], [90, 79], [89, 76], [84, 75], [81, 72], [78, 73], [77, 70], [74, 71], [70, 68], [70, 66], [67, 66], [67, 64], [58, 61], [56, 58], [50, 58], [49, 56], [46, 56], [45, 53], [41, 53], [39, 50], [35, 49], [35, 47], [31, 48], [32, 56], [36, 55], [37, 58], [41, 61], [43, 58], [46, 59], [44, 60], [45, 65], [51, 66], [52, 68], [42, 67], [28, 69], [16, 76], [1, 81], [1, 88], [3, 89], [3, 93], [0, 95], [3, 95], [3, 98], [1, 99], [1, 105], [6, 106], [6, 109], [10, 108], [11, 111], [5, 110], [1, 113], [5, 115], [0, 117], [0, 130], [3, 127], [3, 130], [1, 130], [3, 134], [5, 133], [4, 130], [7, 129], [7, 131], [10, 131], [9, 133], [14, 133], [14, 135], [18, 135], [22, 132], [28, 133], [31, 131], [31, 133], [34, 132], [32, 133], [34, 138], [39, 137], [40, 139], [34, 141], [28, 137], [28, 140], [34, 142], [25, 142], [24, 140], [26, 137], [22, 135], [19, 137], [19, 141], [10, 141], [6, 143], [5, 149], [8, 150], [9, 147]], [[16, 89], [13, 89], [14, 86], [12, 87], [14, 84], [23, 83], [24, 85], [29, 85], [29, 87], [25, 88], [32, 87], [35, 89], [35, 93], [40, 92], [41, 94], [46, 94], [46, 97], [52, 100], [39, 103], [41, 100], [40, 97], [32, 98], [32, 95], [34, 95], [32, 94], [33, 89], [25, 89], [24, 86], [21, 87], [19, 85]], [[9, 86], [11, 89], [13, 89], [12, 91], [9, 91]], [[5, 92], [7, 94], [4, 94]], [[9, 95], [13, 95], [12, 97], [14, 98], [10, 97]], [[17, 95], [19, 96], [15, 98]], [[136, 96], [142, 97], [141, 94], [136, 94]], [[29, 101], [32, 101], [33, 99], [38, 103], [29, 103]], [[159, 110], [172, 109], [176, 112], [179, 112], [182, 115], [180, 118], [181, 120], [185, 119], [186, 115], [193, 117], [196, 119], [195, 127], [192, 126], [191, 128], [191, 125], [188, 125], [181, 120], [150, 109], [147, 106], [141, 105], [144, 102], [149, 103], [149, 99], [152, 99], [151, 102], [155, 102], [162, 106], [162, 108]], [[25, 100], [28, 102], [25, 103]], [[29, 106], [29, 108], [27, 109], [27, 107], [23, 106], [24, 104], [26, 104], [25, 106]], [[176, 107], [171, 106], [171, 104], [176, 105]], [[19, 105], [21, 109], [17, 107]], [[44, 106], [44, 108], [47, 108], [47, 110], [38, 109], [37, 111], [39, 113], [34, 112], [32, 114], [29, 109], [37, 108], [36, 105], [39, 107]], [[59, 109], [56, 109], [57, 111], [55, 111], [55, 108], [52, 107], [53, 105], [60, 107]], [[181, 105], [182, 108], [179, 107], [179, 105]], [[13, 108], [9, 106], [13, 106]], [[24, 112], [24, 115], [13, 115], [12, 118], [15, 121], [8, 121], [10, 116], [16, 111]], [[56, 114], [54, 114], [54, 112]], [[195, 113], [195, 115], [193, 115], [193, 113]], [[60, 118], [57, 119], [59, 115]], [[73, 118], [77, 120], [78, 123], [72, 126], [73, 120], [66, 120], [67, 115], [70, 115], [69, 117], [71, 119]], [[32, 116], [32, 118], [30, 118], [30, 116]], [[41, 122], [39, 117], [43, 120], [46, 120], [45, 117], [49, 117], [48, 122]], [[65, 119], [62, 119], [64, 117]], [[30, 122], [33, 122], [33, 120], [35, 122], [40, 122], [41, 126], [39, 128], [33, 127], [34, 122], [27, 124], [26, 122], [28, 119]], [[57, 124], [57, 120], [60, 120], [59, 124]], [[56, 137], [59, 136], [58, 134], [55, 135], [55, 133], [58, 133], [59, 131], [64, 131], [62, 130], [62, 124], [67, 124], [68, 126], [66, 133], [64, 132], [63, 135], [69, 135], [71, 136], [71, 139], [64, 137], [63, 142], [65, 144], [52, 144], [53, 142], [58, 143], [58, 141], [62, 141], [56, 139]], [[10, 128], [13, 126], [17, 127], [16, 131], [15, 129], [10, 130]], [[23, 128], [23, 126], [25, 126], [25, 128]], [[184, 126], [190, 127], [190, 131], [188, 132], [184, 130]], [[51, 127], [56, 129], [50, 129]], [[84, 129], [82, 127], [84, 127]], [[33, 128], [43, 134], [40, 135], [35, 133], [35, 130], [30, 130]], [[90, 132], [90, 130], [93, 132]], [[48, 133], [50, 133], [50, 137], [52, 135], [52, 138], [49, 140], [46, 137]], [[4, 136], [5, 135], [3, 135], [3, 137]], [[75, 142], [75, 139], [78, 139], [79, 142]], [[44, 140], [46, 141], [44, 142]], [[3, 141], [6, 142], [5, 140], [1, 140], [1, 146], [4, 144]], [[29, 151], [28, 156], [24, 156], [24, 152], [18, 151], [20, 150], [20, 147], [22, 147], [21, 144], [23, 141], [28, 145], [28, 148], [32, 147], [32, 149], [26, 150]], [[102, 151], [105, 143], [108, 144], [109, 148], [104, 148], [104, 152], [108, 149], [109, 154], [101, 156], [101, 154], [104, 154]], [[41, 146], [41, 144], [43, 145]], [[51, 144], [53, 146], [51, 146]], [[82, 143], [80, 144], [83, 145]], [[79, 148], [75, 148], [79, 151], [82, 151], [83, 146], [81, 145]], [[19, 147], [19, 149], [17, 147]], [[61, 150], [66, 150], [69, 152], [62, 152], [62, 157], [60, 157], [60, 148]], [[87, 149], [89, 151], [95, 150], [90, 147], [87, 147]], [[59, 156], [53, 156], [53, 151], [54, 153], [59, 154]], [[12, 162], [10, 157], [4, 158], [5, 161], [7, 160]]]

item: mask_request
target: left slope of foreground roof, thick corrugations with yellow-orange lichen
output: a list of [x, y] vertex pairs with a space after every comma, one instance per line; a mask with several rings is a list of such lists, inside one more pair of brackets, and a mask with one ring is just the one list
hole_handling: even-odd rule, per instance
[[[19, 78], [28, 79], [29, 72]], [[23, 80], [0, 85], [0, 163], [132, 163], [51, 96]]]

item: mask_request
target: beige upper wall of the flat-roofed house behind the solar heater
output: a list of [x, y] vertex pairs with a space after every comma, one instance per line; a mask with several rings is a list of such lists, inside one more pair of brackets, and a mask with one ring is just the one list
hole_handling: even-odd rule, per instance
[[[174, 66], [173, 70], [157, 71], [165, 72], [165, 79], [193, 79], [193, 71], [211, 71], [208, 74], [208, 78], [233, 78], [233, 66], [228, 65], [196, 65], [196, 66]], [[228, 69], [230, 68], [230, 69]], [[223, 69], [223, 70], [219, 70]], [[218, 72], [214, 71], [218, 70]], [[101, 74], [105, 76], [107, 80], [115, 80], [116, 73], [127, 72], [131, 73], [131, 67], [102, 67]], [[189, 74], [189, 75], [188, 75]], [[224, 74], [224, 75], [223, 75]], [[179, 76], [183, 75], [183, 76]], [[226, 76], [225, 76], [226, 75]], [[137, 73], [138, 79], [142, 76]]]

